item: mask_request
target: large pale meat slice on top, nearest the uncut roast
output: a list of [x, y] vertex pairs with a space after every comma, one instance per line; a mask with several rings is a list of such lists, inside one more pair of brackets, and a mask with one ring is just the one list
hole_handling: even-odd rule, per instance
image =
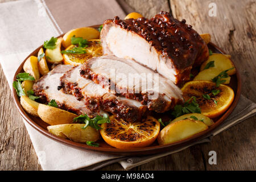
[[93, 57], [82, 65], [80, 75], [159, 113], [183, 102], [181, 90], [172, 81], [130, 59]]

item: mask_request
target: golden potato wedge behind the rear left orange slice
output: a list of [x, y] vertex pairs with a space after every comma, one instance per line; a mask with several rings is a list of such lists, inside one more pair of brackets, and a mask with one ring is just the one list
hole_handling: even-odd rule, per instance
[[71, 45], [71, 38], [74, 35], [76, 36], [76, 38], [83, 38], [86, 40], [100, 38], [100, 32], [97, 31], [95, 28], [91, 28], [91, 27], [76, 28], [68, 31], [63, 36], [63, 42], [62, 42], [63, 47], [67, 48], [68, 46]]

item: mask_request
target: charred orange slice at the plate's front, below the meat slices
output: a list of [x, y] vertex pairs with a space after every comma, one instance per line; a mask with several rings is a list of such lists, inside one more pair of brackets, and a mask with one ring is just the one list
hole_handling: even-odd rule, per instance
[[115, 115], [109, 117], [111, 123], [101, 125], [101, 136], [110, 146], [115, 148], [146, 147], [155, 141], [160, 131], [160, 123], [148, 116], [142, 122], [129, 123], [117, 119]]

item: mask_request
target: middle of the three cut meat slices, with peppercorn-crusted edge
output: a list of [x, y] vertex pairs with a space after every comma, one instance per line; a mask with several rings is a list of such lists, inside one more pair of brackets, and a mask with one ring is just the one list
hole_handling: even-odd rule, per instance
[[126, 121], [138, 121], [146, 113], [147, 107], [129, 98], [115, 96], [101, 85], [80, 76], [81, 65], [72, 68], [60, 78], [60, 87], [64, 93], [73, 94], [84, 101], [89, 110], [100, 109], [117, 114]]

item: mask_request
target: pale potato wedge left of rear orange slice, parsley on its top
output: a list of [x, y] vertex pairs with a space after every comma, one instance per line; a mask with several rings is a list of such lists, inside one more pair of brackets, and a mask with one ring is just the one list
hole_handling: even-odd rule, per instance
[[48, 63], [61, 63], [61, 61], [63, 60], [62, 53], [60, 50], [62, 41], [63, 38], [58, 38], [55, 49], [46, 49], [45, 57]]

